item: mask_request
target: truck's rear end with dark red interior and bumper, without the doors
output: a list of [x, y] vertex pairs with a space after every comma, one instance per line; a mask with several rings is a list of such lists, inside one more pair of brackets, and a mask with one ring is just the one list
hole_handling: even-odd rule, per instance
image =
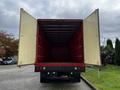
[[83, 20], [38, 19], [35, 72], [41, 82], [80, 81], [85, 71]]

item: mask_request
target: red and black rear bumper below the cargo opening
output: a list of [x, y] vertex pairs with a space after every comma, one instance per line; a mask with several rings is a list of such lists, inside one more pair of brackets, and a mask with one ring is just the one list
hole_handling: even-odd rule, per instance
[[78, 63], [43, 63], [35, 64], [35, 72], [84, 72], [85, 65]]

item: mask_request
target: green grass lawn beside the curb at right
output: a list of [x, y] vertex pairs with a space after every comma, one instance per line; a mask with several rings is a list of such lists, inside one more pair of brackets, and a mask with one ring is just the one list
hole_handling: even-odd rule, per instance
[[120, 90], [120, 66], [107, 65], [101, 69], [87, 67], [83, 76], [98, 90]]

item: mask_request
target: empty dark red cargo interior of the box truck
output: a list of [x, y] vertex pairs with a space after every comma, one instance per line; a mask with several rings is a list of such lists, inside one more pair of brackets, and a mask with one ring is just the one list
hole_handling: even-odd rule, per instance
[[84, 63], [83, 20], [38, 19], [36, 63]]

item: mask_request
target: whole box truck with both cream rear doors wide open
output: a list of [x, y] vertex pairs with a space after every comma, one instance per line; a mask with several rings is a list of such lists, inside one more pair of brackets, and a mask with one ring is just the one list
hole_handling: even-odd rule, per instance
[[80, 82], [85, 64], [101, 65], [98, 13], [86, 19], [35, 19], [21, 9], [18, 65], [33, 64], [42, 83]]

